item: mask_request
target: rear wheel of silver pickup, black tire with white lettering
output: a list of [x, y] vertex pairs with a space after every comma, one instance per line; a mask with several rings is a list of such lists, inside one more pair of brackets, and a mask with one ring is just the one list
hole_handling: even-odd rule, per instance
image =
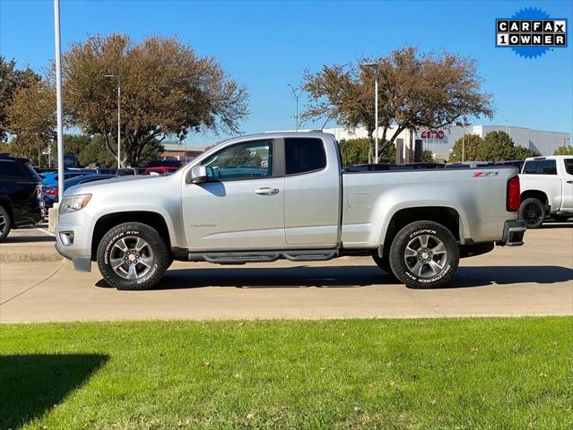
[[[422, 245], [424, 240], [426, 247]], [[414, 247], [417, 244], [420, 247]], [[413, 254], [406, 256], [408, 245], [408, 254], [412, 251]], [[456, 237], [448, 228], [433, 221], [408, 224], [398, 232], [390, 246], [392, 271], [408, 288], [445, 286], [456, 274], [459, 259]]]

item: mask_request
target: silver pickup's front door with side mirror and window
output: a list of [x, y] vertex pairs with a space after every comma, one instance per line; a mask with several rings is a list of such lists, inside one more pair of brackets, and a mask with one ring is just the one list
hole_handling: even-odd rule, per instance
[[213, 177], [183, 184], [183, 221], [192, 250], [248, 250], [285, 245], [284, 176], [277, 175], [276, 142], [226, 146], [202, 161]]

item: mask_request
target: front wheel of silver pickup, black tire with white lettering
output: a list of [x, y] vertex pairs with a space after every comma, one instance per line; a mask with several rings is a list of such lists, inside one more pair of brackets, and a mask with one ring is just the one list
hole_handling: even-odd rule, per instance
[[[141, 251], [141, 255], [133, 254], [136, 246], [140, 244], [138, 239], [143, 239], [145, 243], [142, 249], [136, 251], [137, 253]], [[123, 251], [121, 247], [124, 247], [126, 251]], [[133, 256], [126, 256], [126, 253], [133, 254]], [[117, 262], [121, 258], [125, 262], [114, 270], [112, 260]], [[137, 258], [140, 260], [138, 261]], [[161, 280], [169, 265], [169, 252], [155, 228], [140, 222], [126, 222], [111, 228], [103, 236], [98, 245], [97, 261], [101, 276], [109, 286], [122, 290], [143, 290], [152, 288]], [[136, 272], [135, 276], [141, 275], [141, 277], [126, 278], [130, 276], [132, 265]]]

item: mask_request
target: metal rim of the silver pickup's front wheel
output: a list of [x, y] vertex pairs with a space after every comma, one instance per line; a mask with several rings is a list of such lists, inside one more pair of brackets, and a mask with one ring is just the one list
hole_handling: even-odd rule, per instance
[[152, 269], [152, 247], [141, 237], [122, 237], [111, 247], [109, 264], [124, 280], [139, 280]]

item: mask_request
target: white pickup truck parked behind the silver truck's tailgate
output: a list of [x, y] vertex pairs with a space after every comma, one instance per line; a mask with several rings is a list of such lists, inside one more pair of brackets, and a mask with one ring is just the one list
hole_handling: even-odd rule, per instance
[[573, 156], [525, 159], [519, 178], [519, 214], [527, 228], [541, 227], [547, 216], [560, 221], [573, 217]]

